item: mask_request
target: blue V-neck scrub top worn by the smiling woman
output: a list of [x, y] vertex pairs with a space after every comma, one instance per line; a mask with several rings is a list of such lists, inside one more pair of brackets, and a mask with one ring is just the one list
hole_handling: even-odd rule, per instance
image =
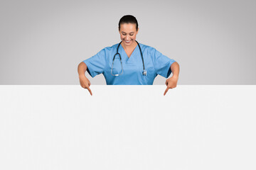
[[119, 45], [118, 52], [122, 58], [123, 73], [119, 55], [116, 55], [112, 74], [122, 74], [112, 76], [112, 61], [117, 53], [118, 45], [119, 43], [112, 45], [112, 47], [105, 47], [96, 55], [83, 61], [87, 65], [87, 72], [92, 78], [102, 73], [107, 85], [152, 85], [158, 74], [165, 78], [170, 76], [170, 67], [175, 60], [162, 55], [154, 47], [143, 45], [142, 43], [139, 43], [139, 45], [142, 49], [146, 76], [142, 75], [143, 62], [139, 45], [135, 47], [130, 57], [127, 56], [122, 45]]

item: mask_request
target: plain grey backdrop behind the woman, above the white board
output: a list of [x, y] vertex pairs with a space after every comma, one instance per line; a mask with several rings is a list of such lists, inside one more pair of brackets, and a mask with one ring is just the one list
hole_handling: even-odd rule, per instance
[[[139, 22], [139, 42], [180, 64], [178, 84], [256, 84], [255, 7], [248, 0], [1, 0], [0, 84], [79, 84], [78, 64], [120, 41], [127, 14]], [[86, 75], [106, 84], [102, 74]], [[164, 82], [158, 76], [154, 84]]]

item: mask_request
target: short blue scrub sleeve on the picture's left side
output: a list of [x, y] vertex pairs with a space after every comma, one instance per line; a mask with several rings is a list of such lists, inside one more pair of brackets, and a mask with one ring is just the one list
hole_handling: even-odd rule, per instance
[[87, 65], [87, 72], [93, 78], [97, 76], [97, 74], [101, 74], [104, 72], [106, 65], [106, 50], [105, 48], [100, 50], [96, 55], [88, 58], [87, 60], [83, 60]]

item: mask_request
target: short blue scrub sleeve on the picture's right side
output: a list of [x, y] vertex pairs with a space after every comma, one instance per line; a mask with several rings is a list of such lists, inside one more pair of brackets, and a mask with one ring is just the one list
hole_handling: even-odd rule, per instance
[[154, 64], [154, 69], [156, 70], [156, 74], [168, 78], [171, 74], [171, 64], [173, 64], [176, 61], [161, 54], [161, 52], [159, 52], [153, 47], [151, 49], [151, 55]]

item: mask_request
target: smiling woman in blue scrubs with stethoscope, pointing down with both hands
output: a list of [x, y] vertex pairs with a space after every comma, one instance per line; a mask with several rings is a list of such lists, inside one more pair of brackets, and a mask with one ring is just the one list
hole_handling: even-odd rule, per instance
[[[166, 78], [166, 90], [177, 86], [179, 65], [175, 60], [161, 54], [154, 47], [137, 42], [139, 31], [134, 16], [123, 16], [119, 21], [121, 42], [105, 47], [96, 55], [78, 65], [80, 85], [90, 90], [90, 81], [85, 71], [93, 78], [103, 74], [107, 85], [152, 85], [159, 74]], [[167, 79], [171, 72], [173, 76]]]

